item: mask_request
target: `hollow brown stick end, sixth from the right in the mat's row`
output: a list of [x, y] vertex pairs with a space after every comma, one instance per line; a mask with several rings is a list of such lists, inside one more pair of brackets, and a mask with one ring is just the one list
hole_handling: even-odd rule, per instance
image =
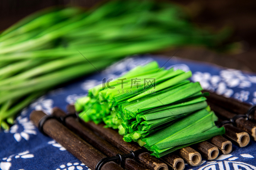
[[161, 159], [174, 170], [183, 170], [185, 168], [184, 160], [177, 155], [170, 153], [161, 157]]

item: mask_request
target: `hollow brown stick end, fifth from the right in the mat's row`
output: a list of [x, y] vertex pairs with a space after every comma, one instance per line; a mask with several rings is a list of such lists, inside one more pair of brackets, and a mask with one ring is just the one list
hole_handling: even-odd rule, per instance
[[201, 154], [191, 147], [180, 149], [179, 154], [191, 166], [198, 166], [202, 161]]

